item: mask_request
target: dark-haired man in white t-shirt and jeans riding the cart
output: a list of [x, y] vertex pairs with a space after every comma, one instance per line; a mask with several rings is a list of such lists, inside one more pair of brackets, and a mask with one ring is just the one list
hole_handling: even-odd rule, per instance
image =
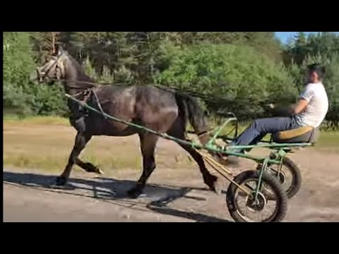
[[325, 68], [318, 63], [308, 66], [307, 85], [299, 97], [299, 102], [292, 109], [292, 116], [258, 119], [230, 146], [255, 145], [268, 133], [289, 131], [303, 126], [318, 128], [328, 111], [328, 97], [322, 83], [325, 73]]

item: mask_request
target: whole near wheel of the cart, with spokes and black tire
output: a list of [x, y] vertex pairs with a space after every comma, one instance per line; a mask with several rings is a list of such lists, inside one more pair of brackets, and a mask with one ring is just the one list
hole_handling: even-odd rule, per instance
[[[281, 222], [287, 213], [287, 195], [274, 176], [264, 173], [261, 178], [257, 200], [259, 172], [245, 171], [235, 177], [234, 182], [250, 191], [242, 191], [231, 183], [226, 196], [227, 208], [236, 222]], [[270, 208], [272, 207], [273, 208]], [[254, 217], [258, 217], [255, 219]]]

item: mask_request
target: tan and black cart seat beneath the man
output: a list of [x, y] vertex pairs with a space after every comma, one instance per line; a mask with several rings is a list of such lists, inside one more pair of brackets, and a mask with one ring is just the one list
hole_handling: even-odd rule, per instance
[[304, 126], [290, 131], [280, 131], [272, 134], [275, 143], [316, 143], [319, 128]]

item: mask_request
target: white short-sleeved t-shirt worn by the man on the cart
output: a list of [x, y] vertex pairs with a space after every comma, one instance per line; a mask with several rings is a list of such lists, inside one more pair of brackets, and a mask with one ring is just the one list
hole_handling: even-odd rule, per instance
[[318, 128], [328, 111], [328, 97], [322, 83], [309, 83], [300, 95], [309, 104], [306, 109], [297, 115], [298, 123], [301, 126]]

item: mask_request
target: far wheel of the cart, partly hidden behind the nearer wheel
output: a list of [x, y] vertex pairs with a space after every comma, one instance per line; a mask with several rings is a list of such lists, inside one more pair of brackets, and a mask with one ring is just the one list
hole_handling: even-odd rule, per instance
[[280, 172], [278, 164], [268, 165], [268, 170], [283, 185], [287, 198], [293, 198], [298, 193], [302, 186], [302, 174], [299, 167], [290, 158], [284, 157]]

